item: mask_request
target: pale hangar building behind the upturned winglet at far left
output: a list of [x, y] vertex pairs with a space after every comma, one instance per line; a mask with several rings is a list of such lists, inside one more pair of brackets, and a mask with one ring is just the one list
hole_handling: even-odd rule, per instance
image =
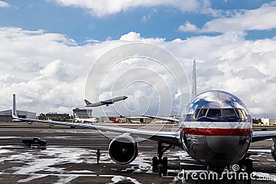
[[[26, 110], [17, 110], [17, 116], [25, 119], [37, 119], [35, 112], [28, 112]], [[0, 122], [12, 122], [12, 110], [0, 111]]]

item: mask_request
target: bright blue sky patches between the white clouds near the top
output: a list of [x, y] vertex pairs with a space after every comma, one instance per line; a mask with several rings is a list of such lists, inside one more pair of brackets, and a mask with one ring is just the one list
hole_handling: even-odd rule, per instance
[[[181, 32], [179, 25], [189, 21], [202, 28], [204, 23], [227, 17], [238, 10], [254, 10], [270, 1], [210, 1], [213, 10], [221, 11], [214, 16], [199, 11], [187, 12], [172, 6], [141, 6], [105, 14], [93, 15], [88, 8], [61, 6], [55, 1], [5, 1], [10, 6], [0, 9], [0, 26], [20, 27], [24, 30], [45, 30], [66, 34], [83, 44], [87, 39], [105, 41], [119, 39], [128, 32], [139, 32], [143, 37], [161, 37], [167, 41], [186, 39], [198, 35], [217, 35], [217, 32]], [[144, 17], [144, 19], [143, 19]], [[272, 17], [273, 18], [273, 17]], [[264, 39], [275, 35], [275, 28], [246, 30], [246, 39]]]

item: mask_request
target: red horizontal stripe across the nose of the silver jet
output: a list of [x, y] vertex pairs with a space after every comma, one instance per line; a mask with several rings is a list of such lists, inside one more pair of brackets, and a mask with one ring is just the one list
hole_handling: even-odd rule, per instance
[[250, 128], [197, 128], [197, 127], [181, 127], [183, 134], [204, 135], [204, 136], [250, 136], [252, 130]]

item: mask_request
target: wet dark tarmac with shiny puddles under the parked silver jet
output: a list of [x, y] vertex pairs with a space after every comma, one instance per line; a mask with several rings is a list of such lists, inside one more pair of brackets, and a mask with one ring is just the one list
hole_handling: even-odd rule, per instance
[[[110, 137], [118, 134], [105, 132]], [[48, 141], [46, 150], [26, 147], [21, 139], [39, 136]], [[179, 172], [199, 172], [205, 167], [197, 165], [186, 152], [168, 150], [168, 174], [152, 172], [152, 156], [157, 154], [155, 141], [139, 142], [139, 155], [128, 165], [118, 165], [110, 159], [110, 139], [97, 130], [49, 127], [0, 128], [0, 183], [183, 183]], [[272, 141], [253, 143], [253, 167], [258, 176], [270, 176], [276, 183], [276, 162], [270, 154]], [[96, 150], [102, 152], [97, 165]], [[186, 183], [197, 183], [188, 180]]]

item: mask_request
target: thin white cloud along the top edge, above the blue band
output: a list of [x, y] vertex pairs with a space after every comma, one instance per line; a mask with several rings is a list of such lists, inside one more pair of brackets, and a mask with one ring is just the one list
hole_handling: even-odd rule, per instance
[[90, 10], [91, 14], [97, 17], [103, 17], [108, 14], [116, 14], [117, 12], [127, 11], [131, 8], [137, 7], [155, 7], [155, 6], [167, 6], [169, 8], [177, 8], [184, 12], [204, 12], [212, 13], [214, 10], [210, 9], [209, 0], [94, 0], [94, 1], [77, 1], [77, 0], [48, 0], [56, 1], [61, 6], [75, 6], [78, 8], [85, 8]]

